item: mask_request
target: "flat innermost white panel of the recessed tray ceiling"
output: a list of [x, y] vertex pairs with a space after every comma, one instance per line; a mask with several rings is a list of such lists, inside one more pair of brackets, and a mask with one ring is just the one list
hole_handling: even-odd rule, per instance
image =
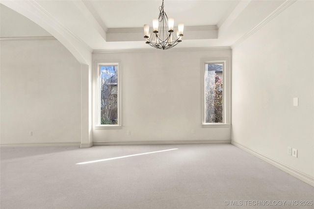
[[[108, 28], [142, 27], [159, 15], [162, 0], [90, 1]], [[185, 26], [217, 25], [239, 0], [165, 0], [164, 11]]]

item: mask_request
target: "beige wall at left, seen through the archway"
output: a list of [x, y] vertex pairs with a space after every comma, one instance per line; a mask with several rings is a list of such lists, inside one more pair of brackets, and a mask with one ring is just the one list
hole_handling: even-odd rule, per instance
[[[80, 144], [81, 66], [57, 40], [1, 41], [1, 145]], [[32, 131], [33, 136], [28, 136]]]

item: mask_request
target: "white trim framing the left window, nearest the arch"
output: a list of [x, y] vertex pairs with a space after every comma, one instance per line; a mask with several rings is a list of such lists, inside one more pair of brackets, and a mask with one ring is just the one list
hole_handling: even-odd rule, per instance
[[[101, 96], [101, 91], [100, 91], [100, 66], [118, 66], [118, 85], [117, 85], [117, 119], [118, 119], [118, 123], [117, 124], [100, 124], [100, 110], [101, 110], [101, 105], [100, 105], [100, 96]], [[95, 129], [108, 129], [108, 128], [119, 128], [122, 126], [122, 122], [121, 122], [121, 64], [120, 62], [96, 62], [95, 63], [95, 68], [97, 70], [95, 73], [95, 104], [94, 104], [94, 128]]]

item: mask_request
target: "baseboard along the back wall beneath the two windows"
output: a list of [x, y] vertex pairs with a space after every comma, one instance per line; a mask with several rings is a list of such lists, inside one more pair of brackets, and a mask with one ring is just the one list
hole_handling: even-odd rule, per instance
[[161, 140], [161, 141], [94, 141], [95, 146], [109, 145], [177, 145], [177, 144], [230, 144], [230, 140]]

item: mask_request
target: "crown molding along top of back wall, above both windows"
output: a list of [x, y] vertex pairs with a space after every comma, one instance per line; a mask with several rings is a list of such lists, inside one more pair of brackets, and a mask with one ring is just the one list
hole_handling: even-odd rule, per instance
[[[231, 47], [230, 46], [217, 46], [217, 47], [171, 48], [171, 51], [212, 51], [212, 50], [231, 50]], [[93, 54], [129, 53], [129, 52], [156, 52], [156, 51], [158, 51], [156, 48], [96, 49], [93, 51]], [[159, 51], [162, 51], [162, 50], [159, 49]]]

